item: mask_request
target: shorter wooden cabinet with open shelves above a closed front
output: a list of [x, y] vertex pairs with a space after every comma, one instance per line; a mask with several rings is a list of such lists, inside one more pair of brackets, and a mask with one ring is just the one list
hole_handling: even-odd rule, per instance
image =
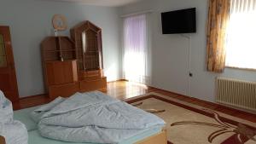
[[44, 84], [49, 97], [72, 95], [79, 91], [76, 49], [69, 37], [45, 37], [41, 43]]

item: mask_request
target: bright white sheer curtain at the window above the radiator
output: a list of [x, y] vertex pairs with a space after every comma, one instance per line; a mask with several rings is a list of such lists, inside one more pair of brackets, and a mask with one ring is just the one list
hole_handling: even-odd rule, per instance
[[256, 69], [256, 0], [231, 0], [226, 66]]

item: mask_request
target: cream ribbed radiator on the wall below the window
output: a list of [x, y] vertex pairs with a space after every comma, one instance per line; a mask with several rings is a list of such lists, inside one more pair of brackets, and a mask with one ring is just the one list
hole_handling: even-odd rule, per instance
[[216, 101], [256, 111], [256, 82], [217, 78]]

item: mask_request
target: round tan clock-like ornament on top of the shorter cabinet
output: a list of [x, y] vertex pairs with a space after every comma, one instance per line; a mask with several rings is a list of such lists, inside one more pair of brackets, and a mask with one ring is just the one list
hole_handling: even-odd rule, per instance
[[67, 29], [67, 20], [63, 15], [55, 14], [52, 18], [52, 25], [55, 30], [64, 31]]

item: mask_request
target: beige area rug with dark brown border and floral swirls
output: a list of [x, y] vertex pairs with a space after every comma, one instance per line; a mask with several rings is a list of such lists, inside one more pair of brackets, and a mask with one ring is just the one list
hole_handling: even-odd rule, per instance
[[163, 118], [172, 144], [256, 144], [255, 123], [207, 107], [154, 92], [126, 102]]

